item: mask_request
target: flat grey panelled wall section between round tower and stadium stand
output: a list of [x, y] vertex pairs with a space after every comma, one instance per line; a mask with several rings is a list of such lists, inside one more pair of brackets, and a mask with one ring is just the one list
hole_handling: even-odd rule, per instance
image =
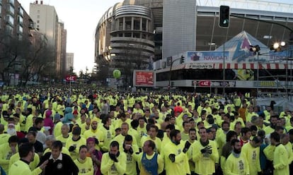
[[195, 0], [163, 1], [163, 58], [195, 50], [195, 9]]

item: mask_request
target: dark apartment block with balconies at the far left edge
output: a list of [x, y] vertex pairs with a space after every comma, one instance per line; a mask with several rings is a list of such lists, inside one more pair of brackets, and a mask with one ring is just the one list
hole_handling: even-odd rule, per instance
[[[36, 34], [36, 35], [35, 35]], [[0, 80], [16, 84], [21, 73], [23, 57], [16, 56], [20, 47], [18, 42], [30, 41], [30, 44], [39, 44], [38, 32], [34, 28], [33, 20], [28, 16], [23, 6], [18, 1], [0, 1]], [[12, 53], [13, 52], [13, 53]]]

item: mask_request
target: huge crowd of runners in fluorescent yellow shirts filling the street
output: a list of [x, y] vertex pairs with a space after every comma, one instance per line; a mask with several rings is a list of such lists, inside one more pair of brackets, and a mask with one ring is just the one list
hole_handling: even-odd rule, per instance
[[249, 93], [0, 93], [1, 174], [293, 174], [293, 111]]

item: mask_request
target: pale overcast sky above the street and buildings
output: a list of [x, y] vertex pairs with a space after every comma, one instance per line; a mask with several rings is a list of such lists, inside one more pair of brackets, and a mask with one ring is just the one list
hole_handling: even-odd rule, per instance
[[[18, 0], [29, 14], [33, 0]], [[67, 52], [74, 53], [74, 72], [91, 73], [94, 66], [95, 32], [98, 21], [105, 11], [123, 0], [43, 0], [43, 4], [54, 6], [59, 20], [67, 29]], [[168, 0], [166, 0], [168, 1]], [[293, 4], [293, 0], [266, 0]], [[40, 4], [40, 0], [38, 1]]]

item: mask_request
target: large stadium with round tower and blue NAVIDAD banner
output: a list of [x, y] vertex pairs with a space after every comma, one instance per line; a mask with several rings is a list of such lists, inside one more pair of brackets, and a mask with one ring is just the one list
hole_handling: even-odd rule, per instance
[[[221, 5], [230, 6], [229, 28], [219, 28]], [[289, 93], [292, 29], [293, 4], [125, 0], [100, 18], [95, 61], [104, 78], [120, 69], [125, 85]], [[270, 51], [275, 42], [286, 45]], [[135, 69], [152, 70], [153, 82], [143, 83], [149, 71], [127, 78]]]

